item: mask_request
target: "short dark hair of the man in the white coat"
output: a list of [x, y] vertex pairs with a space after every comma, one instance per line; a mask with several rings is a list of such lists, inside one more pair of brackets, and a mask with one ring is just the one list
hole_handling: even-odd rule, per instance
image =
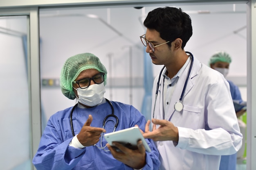
[[173, 7], [157, 8], [148, 13], [144, 21], [148, 29], [155, 29], [160, 37], [171, 42], [176, 38], [182, 39], [182, 50], [192, 36], [191, 18], [181, 9]]

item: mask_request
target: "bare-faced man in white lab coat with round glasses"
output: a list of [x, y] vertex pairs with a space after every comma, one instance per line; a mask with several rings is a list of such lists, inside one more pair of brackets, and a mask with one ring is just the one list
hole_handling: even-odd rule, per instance
[[229, 83], [184, 51], [192, 26], [181, 9], [155, 9], [144, 26], [146, 34], [140, 37], [146, 52], [154, 64], [165, 66], [154, 81], [153, 126], [148, 121], [144, 133], [155, 141], [160, 169], [218, 170], [220, 155], [236, 153], [243, 138]]

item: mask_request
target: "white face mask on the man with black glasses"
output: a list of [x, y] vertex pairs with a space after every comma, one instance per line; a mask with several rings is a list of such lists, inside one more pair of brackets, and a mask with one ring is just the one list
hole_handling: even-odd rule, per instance
[[79, 97], [78, 102], [90, 107], [100, 104], [106, 92], [104, 83], [93, 84], [85, 89], [79, 87], [76, 91]]

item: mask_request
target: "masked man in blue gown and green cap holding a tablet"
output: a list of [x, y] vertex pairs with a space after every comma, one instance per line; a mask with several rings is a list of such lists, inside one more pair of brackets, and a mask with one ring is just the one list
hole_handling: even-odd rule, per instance
[[[67, 98], [78, 102], [49, 118], [33, 158], [37, 170], [159, 168], [159, 153], [151, 139], [146, 140], [152, 150], [150, 153], [145, 151], [141, 140], [137, 150], [115, 142], [121, 152], [107, 144], [103, 133], [135, 125], [144, 129], [146, 119], [131, 105], [104, 98], [106, 83], [107, 70], [94, 54], [77, 54], [66, 60], [61, 70], [61, 91]], [[108, 117], [111, 113], [114, 116]]]

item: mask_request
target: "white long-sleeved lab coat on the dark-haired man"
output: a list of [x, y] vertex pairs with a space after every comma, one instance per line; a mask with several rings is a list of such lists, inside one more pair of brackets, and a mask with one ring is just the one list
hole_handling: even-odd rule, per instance
[[[191, 61], [190, 61], [191, 62]], [[182, 99], [184, 108], [174, 110], [179, 101], [190, 63], [180, 75], [165, 120], [179, 131], [179, 142], [155, 142], [161, 170], [218, 170], [220, 155], [236, 153], [243, 135], [240, 133], [229, 83], [217, 72], [194, 58], [193, 67]], [[163, 73], [166, 72], [166, 69]], [[161, 75], [162, 76], [162, 75]], [[153, 107], [158, 76], [153, 86]], [[155, 118], [163, 119], [163, 76], [159, 83]], [[166, 96], [167, 98], [167, 96]], [[175, 146], [176, 145], [176, 146]]]

